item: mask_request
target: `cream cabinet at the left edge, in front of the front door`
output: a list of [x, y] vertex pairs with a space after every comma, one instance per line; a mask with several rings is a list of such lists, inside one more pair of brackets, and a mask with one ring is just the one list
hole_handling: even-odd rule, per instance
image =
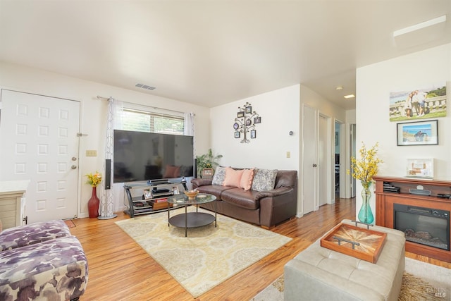
[[25, 190], [29, 180], [0, 182], [0, 219], [3, 228], [23, 225], [25, 218]]

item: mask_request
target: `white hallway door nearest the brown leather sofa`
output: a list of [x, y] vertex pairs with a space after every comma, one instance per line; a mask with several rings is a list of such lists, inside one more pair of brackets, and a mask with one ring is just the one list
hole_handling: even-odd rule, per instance
[[318, 209], [318, 113], [304, 105], [302, 118], [302, 214]]

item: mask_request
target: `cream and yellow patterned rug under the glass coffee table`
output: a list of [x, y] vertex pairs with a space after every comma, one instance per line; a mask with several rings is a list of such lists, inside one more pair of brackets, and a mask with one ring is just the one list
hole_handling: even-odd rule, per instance
[[[188, 211], [194, 211], [189, 207]], [[171, 211], [171, 216], [185, 209]], [[202, 212], [209, 212], [199, 209]], [[161, 212], [116, 221], [193, 297], [246, 269], [289, 242], [278, 233], [218, 214], [217, 227], [168, 226], [168, 213]]]

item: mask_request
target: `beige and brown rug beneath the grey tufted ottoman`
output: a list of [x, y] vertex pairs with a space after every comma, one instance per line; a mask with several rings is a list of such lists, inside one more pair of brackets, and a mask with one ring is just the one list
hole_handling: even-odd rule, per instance
[[[406, 258], [398, 301], [449, 301], [451, 269]], [[283, 301], [283, 275], [250, 301]]]

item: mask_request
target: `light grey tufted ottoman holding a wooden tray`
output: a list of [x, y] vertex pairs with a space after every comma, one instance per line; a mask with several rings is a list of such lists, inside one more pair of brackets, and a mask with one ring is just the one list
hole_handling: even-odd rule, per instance
[[[342, 223], [355, 225], [350, 220]], [[284, 300], [397, 300], [404, 272], [404, 233], [380, 226], [370, 229], [387, 233], [376, 264], [321, 247], [320, 238], [285, 264]]]

